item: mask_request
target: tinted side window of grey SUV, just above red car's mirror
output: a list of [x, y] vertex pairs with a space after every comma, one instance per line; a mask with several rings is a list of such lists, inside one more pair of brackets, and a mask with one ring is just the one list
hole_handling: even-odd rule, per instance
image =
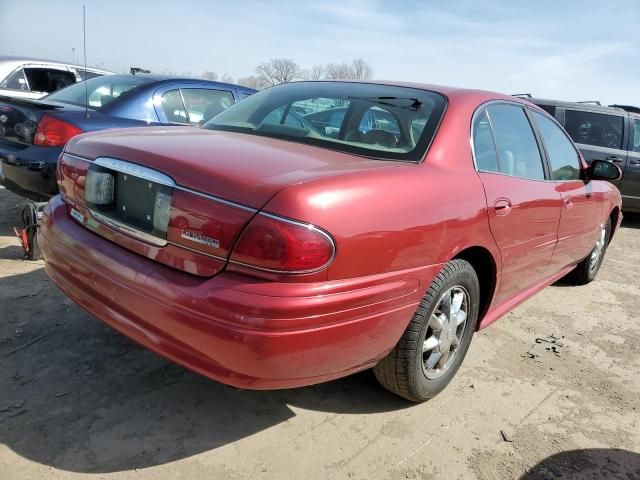
[[622, 148], [623, 117], [569, 109], [564, 115], [564, 128], [574, 142], [618, 150]]

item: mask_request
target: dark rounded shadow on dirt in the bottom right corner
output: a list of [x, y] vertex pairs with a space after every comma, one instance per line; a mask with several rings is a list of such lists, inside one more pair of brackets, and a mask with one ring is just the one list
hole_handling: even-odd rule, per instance
[[640, 479], [640, 455], [628, 450], [591, 448], [561, 452], [535, 465], [520, 480]]

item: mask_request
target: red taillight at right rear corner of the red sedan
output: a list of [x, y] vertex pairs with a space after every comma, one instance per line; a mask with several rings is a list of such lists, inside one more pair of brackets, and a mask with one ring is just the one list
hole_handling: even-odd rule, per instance
[[231, 262], [282, 273], [315, 272], [335, 254], [333, 239], [319, 228], [259, 213], [246, 227]]

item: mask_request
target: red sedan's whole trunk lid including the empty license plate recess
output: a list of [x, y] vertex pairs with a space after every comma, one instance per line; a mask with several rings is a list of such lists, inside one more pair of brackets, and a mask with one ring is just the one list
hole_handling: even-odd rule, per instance
[[[73, 138], [58, 185], [80, 213], [71, 215], [96, 233], [174, 268], [211, 276], [224, 268], [247, 223], [283, 188], [384, 166], [389, 163], [245, 134], [127, 129]], [[112, 176], [115, 192], [106, 204], [89, 191], [101, 174]]]

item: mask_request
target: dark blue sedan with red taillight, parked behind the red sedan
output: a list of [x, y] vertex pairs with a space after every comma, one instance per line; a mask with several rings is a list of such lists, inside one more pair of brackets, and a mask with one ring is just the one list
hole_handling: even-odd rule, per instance
[[109, 128], [199, 126], [254, 92], [207, 80], [109, 75], [39, 100], [0, 96], [0, 181], [47, 201], [57, 193], [56, 164], [69, 138]]

